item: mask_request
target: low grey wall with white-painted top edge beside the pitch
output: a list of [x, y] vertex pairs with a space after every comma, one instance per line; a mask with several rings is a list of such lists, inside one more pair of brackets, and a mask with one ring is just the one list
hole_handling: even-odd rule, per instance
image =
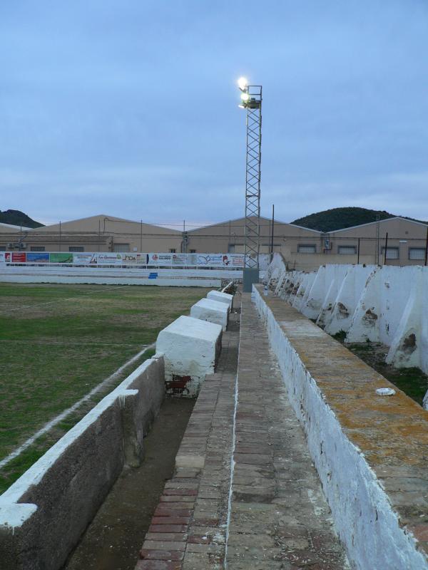
[[123, 467], [141, 462], [164, 393], [157, 354], [1, 495], [1, 570], [61, 568]]

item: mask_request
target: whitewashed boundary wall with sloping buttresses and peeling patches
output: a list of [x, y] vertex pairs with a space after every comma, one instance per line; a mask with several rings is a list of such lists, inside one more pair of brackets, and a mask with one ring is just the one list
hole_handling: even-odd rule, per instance
[[428, 267], [341, 264], [305, 273], [285, 271], [274, 256], [267, 282], [327, 333], [383, 343], [388, 363], [428, 373]]

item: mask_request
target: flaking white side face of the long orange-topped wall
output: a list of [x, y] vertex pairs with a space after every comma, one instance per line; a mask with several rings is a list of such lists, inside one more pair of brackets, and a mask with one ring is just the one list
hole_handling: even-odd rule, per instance
[[[265, 322], [270, 347], [287, 386], [290, 403], [307, 435], [307, 444], [340, 539], [357, 570], [428, 570], [412, 534], [400, 526], [389, 497], [364, 454], [345, 435], [316, 380], [291, 345], [257, 289], [253, 300]], [[314, 343], [317, 330], [311, 330]], [[322, 445], [321, 445], [322, 443]], [[377, 517], [373, 516], [376, 512]], [[377, 519], [382, 524], [377, 524]]]

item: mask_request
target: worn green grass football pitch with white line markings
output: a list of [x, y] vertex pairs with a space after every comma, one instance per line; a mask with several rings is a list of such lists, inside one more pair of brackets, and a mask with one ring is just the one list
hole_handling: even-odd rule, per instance
[[[0, 460], [156, 341], [206, 289], [0, 284]], [[153, 351], [0, 469], [0, 492]]]

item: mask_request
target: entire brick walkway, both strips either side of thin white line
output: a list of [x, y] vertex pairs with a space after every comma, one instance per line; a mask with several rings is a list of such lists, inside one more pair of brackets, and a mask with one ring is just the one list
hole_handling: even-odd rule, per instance
[[218, 371], [200, 391], [136, 570], [347, 569], [249, 294], [243, 294], [233, 439], [234, 328], [232, 319]]

